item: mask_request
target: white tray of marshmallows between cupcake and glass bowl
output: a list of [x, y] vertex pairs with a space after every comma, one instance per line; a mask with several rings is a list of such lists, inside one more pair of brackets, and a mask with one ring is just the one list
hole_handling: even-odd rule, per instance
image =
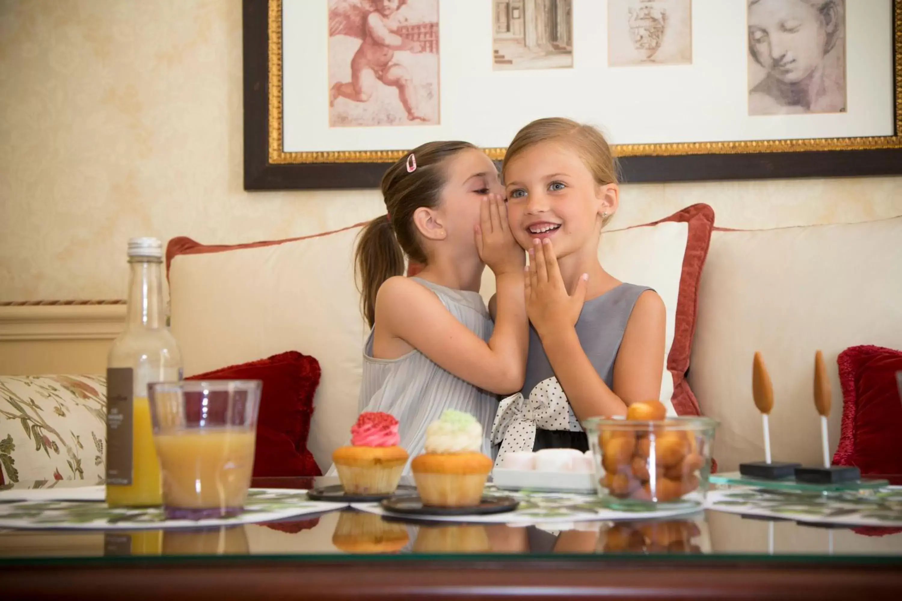
[[492, 482], [517, 490], [594, 493], [594, 461], [592, 451], [575, 449], [505, 453], [492, 469]]

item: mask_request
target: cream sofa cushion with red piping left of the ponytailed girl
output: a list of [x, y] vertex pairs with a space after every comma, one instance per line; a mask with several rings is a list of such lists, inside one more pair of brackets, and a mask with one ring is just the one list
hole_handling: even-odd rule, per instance
[[191, 376], [299, 351], [319, 361], [308, 449], [324, 472], [357, 415], [368, 329], [354, 281], [359, 226], [288, 241], [170, 241], [171, 328]]

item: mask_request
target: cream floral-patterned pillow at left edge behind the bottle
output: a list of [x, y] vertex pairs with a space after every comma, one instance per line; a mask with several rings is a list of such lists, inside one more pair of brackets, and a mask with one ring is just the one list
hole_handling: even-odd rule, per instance
[[106, 378], [0, 376], [0, 484], [106, 477]]

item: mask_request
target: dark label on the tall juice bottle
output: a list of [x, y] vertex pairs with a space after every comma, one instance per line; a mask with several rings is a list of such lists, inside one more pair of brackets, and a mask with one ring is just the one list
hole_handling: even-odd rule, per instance
[[106, 369], [106, 484], [132, 484], [132, 368]]

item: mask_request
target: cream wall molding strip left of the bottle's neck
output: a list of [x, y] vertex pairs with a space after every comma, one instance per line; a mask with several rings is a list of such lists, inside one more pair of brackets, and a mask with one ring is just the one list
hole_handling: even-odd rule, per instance
[[113, 340], [125, 305], [0, 306], [0, 341]]

